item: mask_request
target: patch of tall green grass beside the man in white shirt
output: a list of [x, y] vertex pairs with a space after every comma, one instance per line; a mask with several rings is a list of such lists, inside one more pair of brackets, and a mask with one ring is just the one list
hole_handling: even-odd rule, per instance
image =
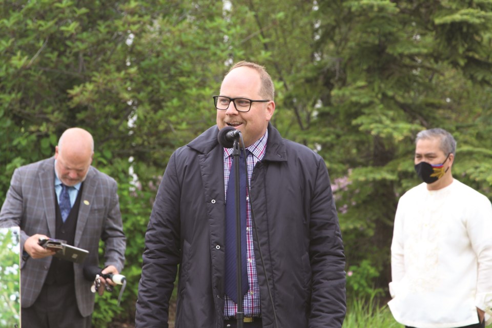
[[380, 305], [374, 298], [354, 299], [347, 303], [343, 328], [404, 328], [393, 318], [386, 304]]

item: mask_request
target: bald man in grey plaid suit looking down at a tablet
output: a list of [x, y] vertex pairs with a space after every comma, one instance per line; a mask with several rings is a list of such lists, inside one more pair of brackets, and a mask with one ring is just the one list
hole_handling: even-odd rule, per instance
[[[94, 310], [86, 265], [98, 265], [99, 240], [105, 242], [103, 273], [117, 274], [125, 261], [116, 181], [91, 166], [94, 141], [89, 132], [68, 129], [54, 157], [14, 171], [0, 211], [0, 227], [20, 227], [21, 323], [25, 328], [88, 328]], [[60, 210], [61, 209], [61, 210]], [[67, 240], [89, 251], [84, 263], [53, 257], [39, 238]], [[101, 279], [99, 294], [104, 284]]]

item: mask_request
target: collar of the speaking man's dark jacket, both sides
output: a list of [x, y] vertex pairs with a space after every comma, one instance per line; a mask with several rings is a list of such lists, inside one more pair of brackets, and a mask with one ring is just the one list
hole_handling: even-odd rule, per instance
[[[217, 140], [217, 134], [219, 129], [217, 125], [210, 127], [194, 140], [192, 140], [187, 146], [196, 150], [199, 153], [207, 154], [215, 147], [219, 146]], [[280, 135], [277, 129], [269, 122], [268, 124], [268, 141], [267, 150], [263, 161], [286, 161], [287, 155], [285, 152], [285, 140]]]

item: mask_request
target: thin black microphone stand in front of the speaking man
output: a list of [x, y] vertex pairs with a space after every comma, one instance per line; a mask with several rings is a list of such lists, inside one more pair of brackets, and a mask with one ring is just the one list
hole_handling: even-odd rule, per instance
[[[245, 152], [245, 150], [244, 150]], [[234, 146], [232, 147], [232, 155], [234, 162], [234, 179], [235, 179], [235, 201], [236, 201], [236, 282], [237, 282], [237, 312], [236, 320], [237, 327], [242, 328], [244, 323], [244, 312], [242, 309], [242, 297], [241, 295], [241, 210], [240, 210], [240, 188], [239, 188], [239, 155], [241, 151], [239, 149], [239, 142], [237, 138], [234, 139]], [[229, 177], [231, 178], [231, 177]], [[248, 179], [248, 177], [247, 177]]]

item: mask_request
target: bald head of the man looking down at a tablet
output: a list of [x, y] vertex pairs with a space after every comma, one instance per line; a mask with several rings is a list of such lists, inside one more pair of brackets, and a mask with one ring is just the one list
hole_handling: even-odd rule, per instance
[[55, 147], [55, 171], [66, 186], [85, 180], [94, 155], [94, 139], [84, 129], [66, 130]]

